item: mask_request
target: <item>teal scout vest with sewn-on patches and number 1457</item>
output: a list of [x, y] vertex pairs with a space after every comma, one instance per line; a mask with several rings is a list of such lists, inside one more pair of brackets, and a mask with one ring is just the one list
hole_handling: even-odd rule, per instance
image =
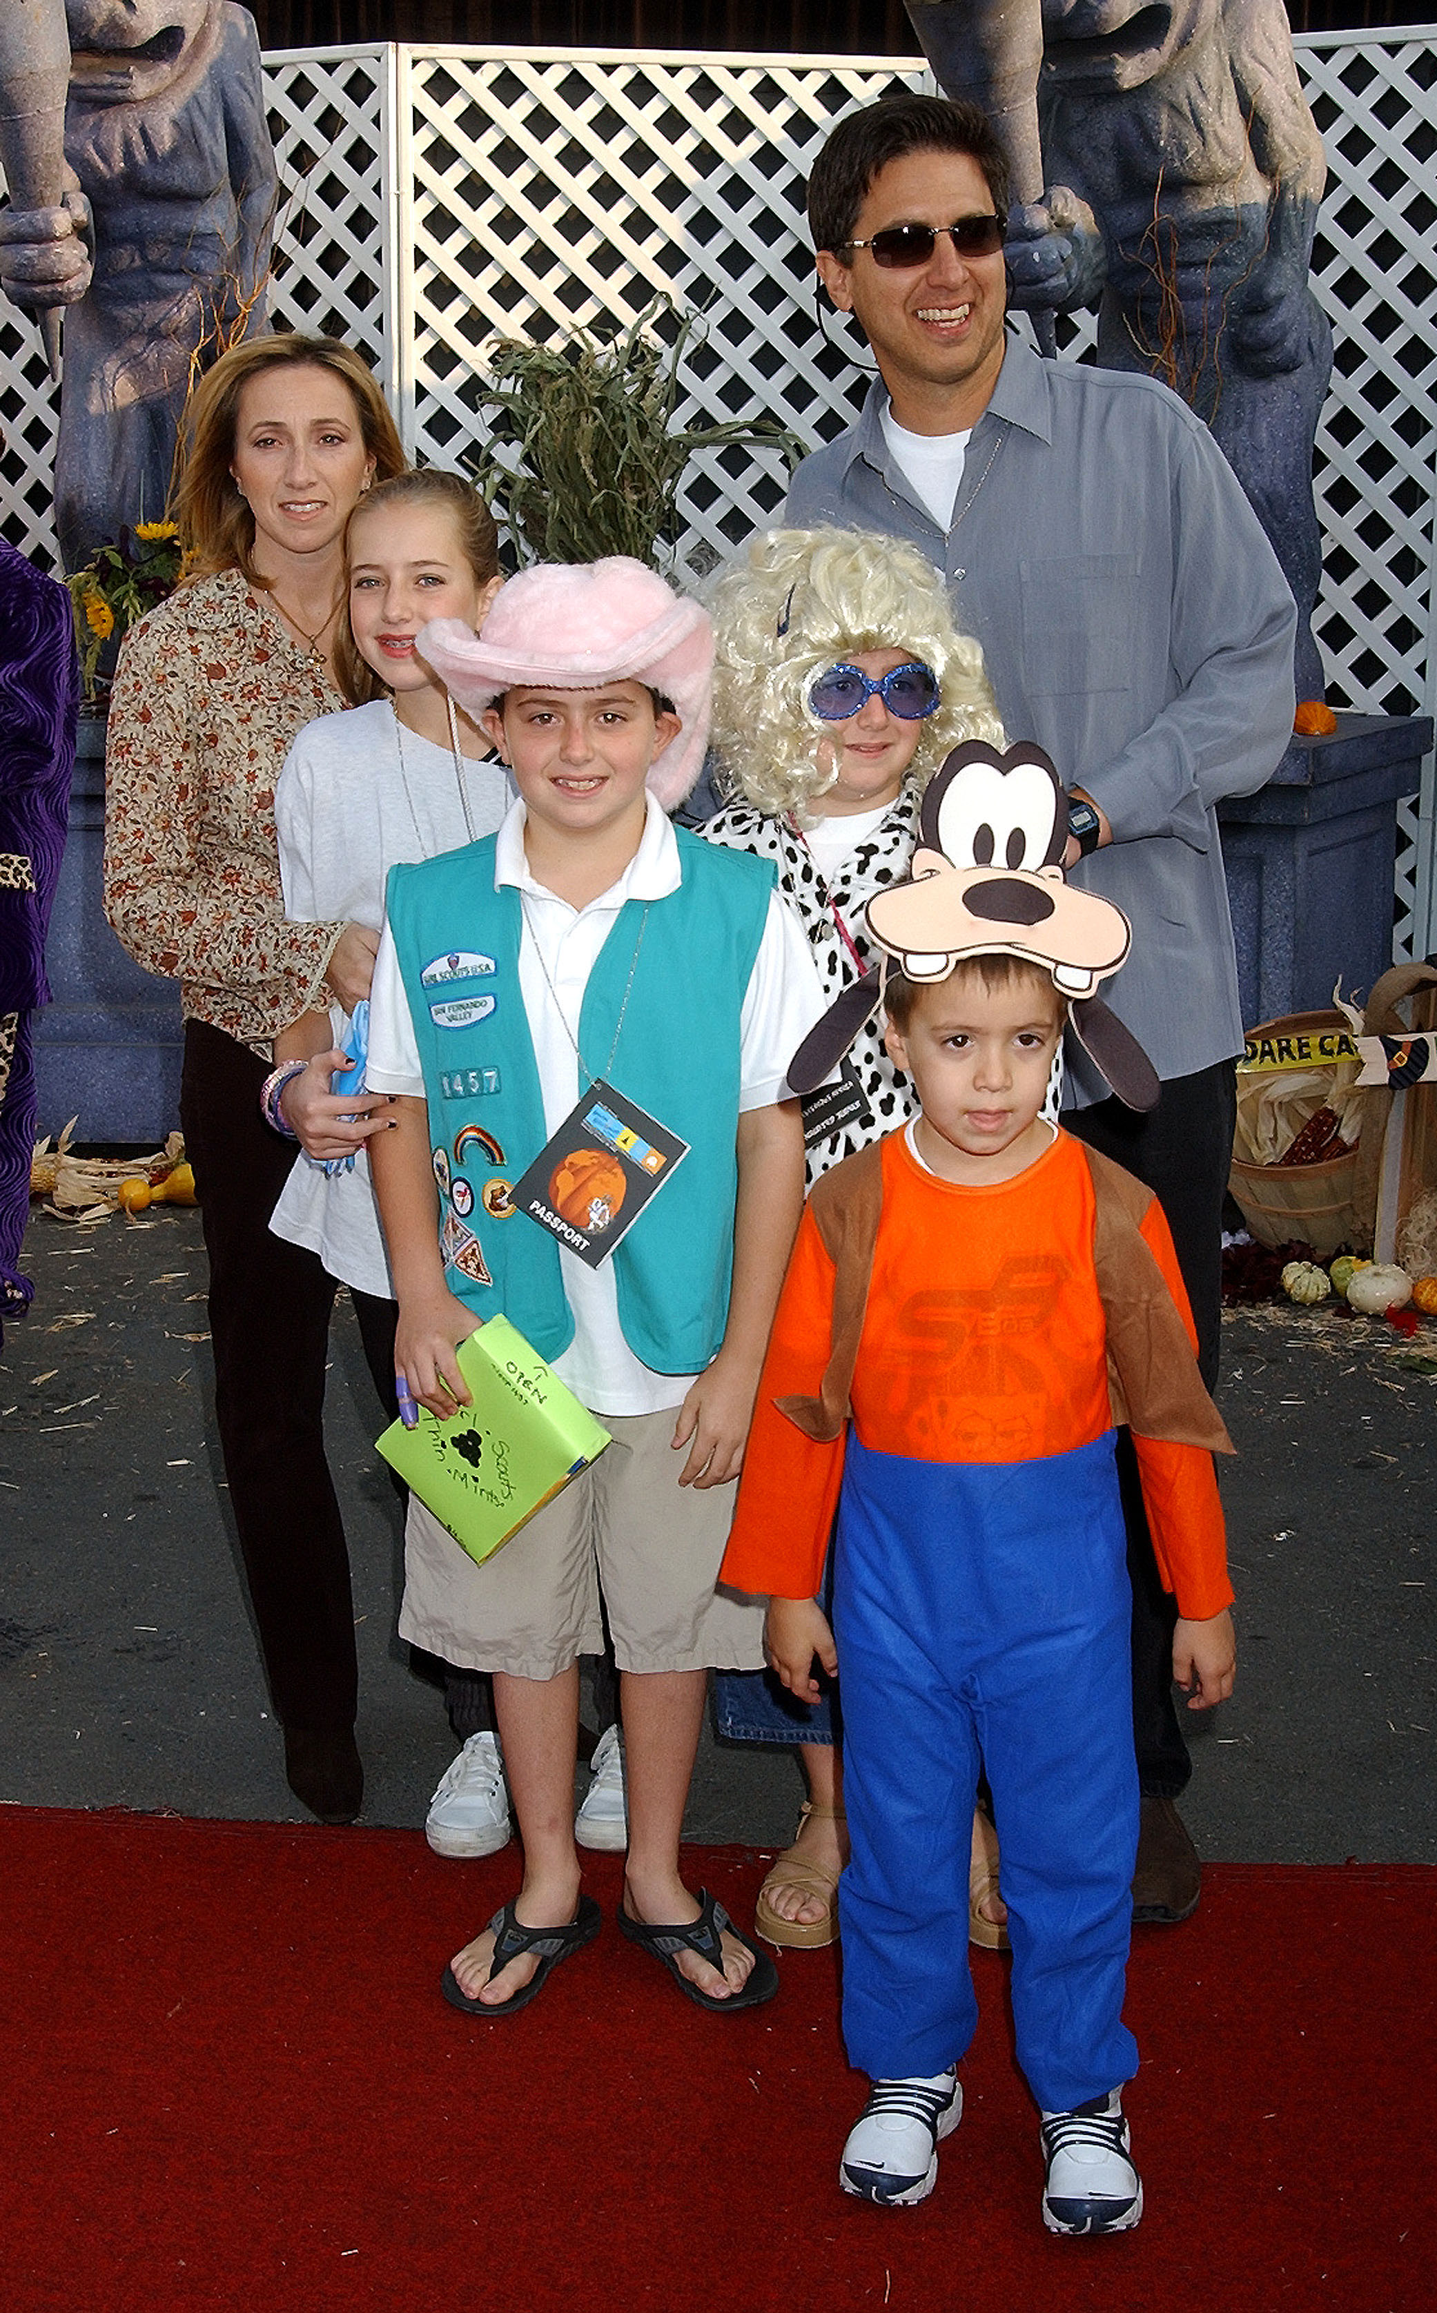
[[[673, 833], [678, 891], [627, 900], [590, 971], [579, 1082], [606, 1076], [690, 1145], [611, 1261], [634, 1355], [659, 1374], [701, 1374], [729, 1321], [738, 1029], [775, 870]], [[560, 1249], [509, 1200], [548, 1133], [518, 992], [523, 909], [511, 884], [495, 891], [493, 870], [493, 835], [393, 867], [386, 911], [423, 1062], [444, 1281], [477, 1318], [502, 1309], [539, 1355], [558, 1358], [574, 1339]]]

